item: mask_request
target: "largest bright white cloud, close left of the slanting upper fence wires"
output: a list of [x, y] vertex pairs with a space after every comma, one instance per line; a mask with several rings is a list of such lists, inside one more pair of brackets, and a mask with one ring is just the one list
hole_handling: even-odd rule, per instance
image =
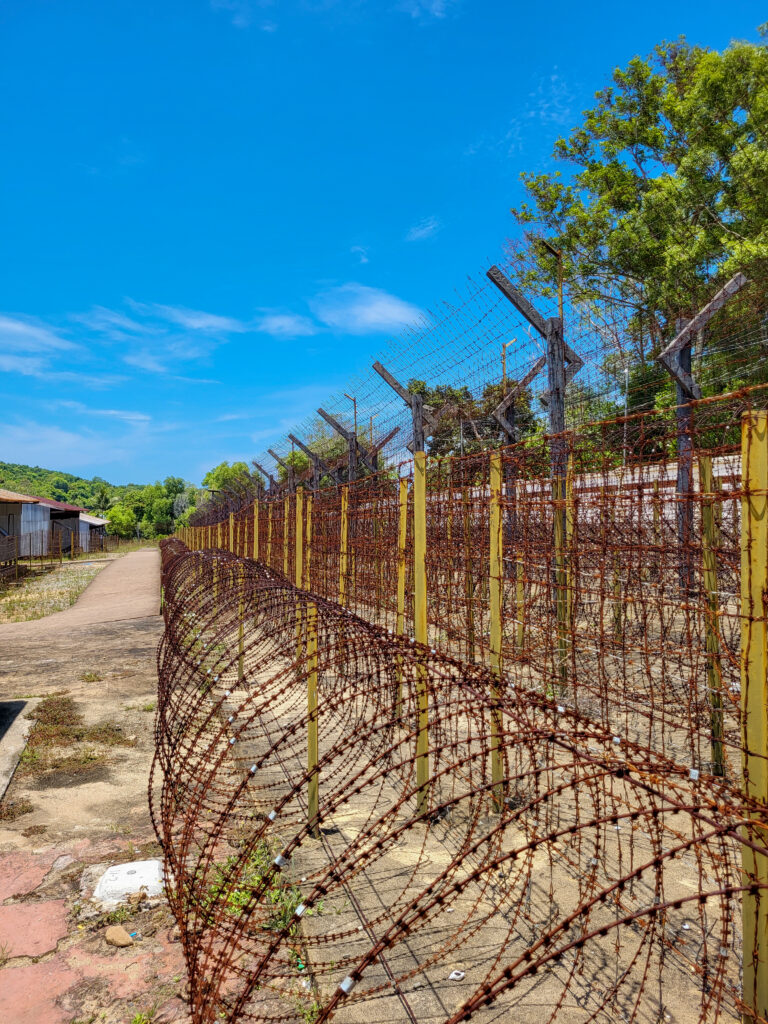
[[395, 295], [353, 283], [317, 295], [309, 307], [319, 321], [344, 334], [396, 331], [424, 315]]

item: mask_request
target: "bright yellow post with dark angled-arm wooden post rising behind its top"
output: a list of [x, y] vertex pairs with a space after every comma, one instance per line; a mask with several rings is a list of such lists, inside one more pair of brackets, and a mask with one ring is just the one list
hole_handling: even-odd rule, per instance
[[[426, 645], [427, 635], [427, 457], [414, 453], [414, 637]], [[417, 812], [427, 810], [429, 793], [429, 694], [426, 666], [417, 673], [419, 735], [416, 743]]]

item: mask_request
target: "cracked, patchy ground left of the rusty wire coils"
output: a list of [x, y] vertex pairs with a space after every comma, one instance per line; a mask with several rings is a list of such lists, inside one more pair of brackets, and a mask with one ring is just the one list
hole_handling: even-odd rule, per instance
[[[69, 695], [85, 737], [54, 742], [40, 759], [28, 748], [0, 804], [7, 1024], [188, 1019], [181, 945], [165, 902], [126, 905], [111, 918], [89, 902], [108, 866], [160, 855], [147, 801], [159, 594], [159, 553], [137, 551], [108, 565], [72, 608], [0, 626], [0, 701], [28, 701], [20, 714], [34, 715], [41, 699]], [[137, 933], [133, 945], [108, 945], [113, 923]]]

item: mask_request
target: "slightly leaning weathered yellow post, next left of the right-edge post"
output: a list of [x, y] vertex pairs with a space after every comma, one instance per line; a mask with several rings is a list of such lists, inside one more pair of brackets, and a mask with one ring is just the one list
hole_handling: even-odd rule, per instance
[[712, 459], [699, 456], [699, 487], [701, 489], [701, 562], [707, 595], [705, 633], [707, 650], [707, 696], [712, 723], [712, 773], [724, 775], [723, 763], [723, 674], [720, 665], [720, 625], [718, 622], [717, 522], [716, 493], [712, 481]]

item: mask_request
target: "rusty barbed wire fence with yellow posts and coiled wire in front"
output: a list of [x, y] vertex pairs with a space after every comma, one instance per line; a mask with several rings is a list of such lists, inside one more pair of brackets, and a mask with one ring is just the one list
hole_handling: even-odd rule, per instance
[[[294, 989], [301, 1013], [312, 994], [318, 1020], [356, 1019], [344, 1007], [362, 997], [389, 1013], [385, 989], [395, 1019], [413, 1019], [414, 979], [433, 990], [433, 966], [460, 950], [472, 968], [454, 981], [471, 991], [423, 1015], [532, 1005], [547, 964], [550, 1020], [569, 1006], [585, 1020], [768, 1018], [765, 404], [760, 387], [687, 407], [683, 492], [679, 417], [654, 413], [464, 459], [417, 453], [399, 476], [299, 488], [163, 546], [157, 827], [187, 879], [175, 905], [187, 962], [201, 984], [214, 978], [216, 997], [194, 1000], [198, 1021], [212, 1006], [241, 1019], [226, 994], [240, 984], [242, 1019], [274, 1019]], [[371, 735], [397, 752], [383, 777]], [[292, 817], [267, 807], [272, 793]], [[401, 856], [378, 845], [390, 825], [410, 837]], [[482, 907], [456, 942], [446, 920], [439, 940], [427, 924], [434, 900], [449, 912], [428, 867], [443, 842], [460, 851], [450, 876], [477, 864], [449, 886]], [[413, 867], [397, 899], [428, 906], [423, 920], [417, 909], [406, 925], [396, 900], [369, 932], [360, 849], [383, 878]], [[494, 852], [478, 862], [479, 849]], [[266, 866], [265, 850], [279, 851]], [[514, 882], [486, 903], [500, 870]], [[291, 916], [265, 938], [286, 887], [305, 907], [325, 899], [326, 882], [305, 888], [324, 871], [360, 923], [329, 938]], [[702, 916], [674, 923], [690, 893]], [[353, 952], [336, 961], [337, 945]], [[571, 955], [560, 977], [554, 965]], [[599, 982], [579, 981], [585, 972]]]

